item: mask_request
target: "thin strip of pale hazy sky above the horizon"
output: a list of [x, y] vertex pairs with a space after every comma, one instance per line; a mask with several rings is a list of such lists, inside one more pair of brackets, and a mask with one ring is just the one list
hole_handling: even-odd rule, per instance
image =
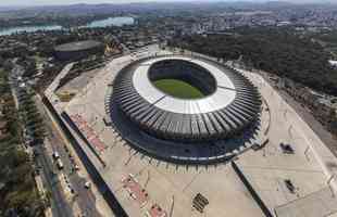
[[[50, 4], [73, 4], [73, 3], [125, 3], [125, 2], [147, 2], [147, 1], [192, 1], [192, 0], [0, 0], [0, 5], [50, 5]], [[198, 0], [210, 1], [210, 0]], [[238, 1], [238, 0], [220, 0]], [[267, 0], [246, 0], [252, 2], [263, 2]], [[289, 2], [334, 2], [337, 0], [288, 0]]]

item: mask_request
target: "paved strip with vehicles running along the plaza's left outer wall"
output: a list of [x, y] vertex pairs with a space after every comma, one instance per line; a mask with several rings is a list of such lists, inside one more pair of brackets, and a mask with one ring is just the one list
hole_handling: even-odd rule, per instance
[[66, 179], [68, 180], [70, 187], [74, 190], [74, 197], [82, 210], [82, 214], [90, 217], [100, 217], [101, 214], [96, 207], [95, 194], [90, 189], [85, 188], [85, 183], [88, 180], [78, 176], [77, 171], [75, 170], [75, 165], [78, 166], [78, 162], [74, 157], [75, 153], [72, 153], [72, 151], [68, 149], [68, 145], [71, 144], [65, 143], [40, 99], [36, 98], [36, 104], [45, 120], [46, 130], [48, 132], [48, 140], [50, 141], [49, 145], [53, 152], [57, 151], [60, 154], [64, 165], [63, 174], [67, 177]]

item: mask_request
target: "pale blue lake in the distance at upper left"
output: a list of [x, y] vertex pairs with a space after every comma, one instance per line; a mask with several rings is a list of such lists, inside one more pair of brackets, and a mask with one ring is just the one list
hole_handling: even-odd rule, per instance
[[[87, 28], [95, 27], [107, 27], [107, 26], [123, 26], [123, 25], [133, 25], [135, 20], [129, 16], [117, 16], [117, 17], [109, 17], [101, 21], [93, 21], [90, 24], [83, 26]], [[5, 29], [0, 29], [0, 36], [8, 36], [16, 33], [27, 31], [35, 33], [38, 30], [60, 30], [62, 26], [58, 25], [45, 25], [45, 26], [17, 26]]]

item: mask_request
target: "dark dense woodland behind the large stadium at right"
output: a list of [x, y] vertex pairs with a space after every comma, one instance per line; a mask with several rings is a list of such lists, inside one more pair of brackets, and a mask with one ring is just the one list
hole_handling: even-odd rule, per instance
[[225, 60], [241, 56], [248, 66], [337, 95], [337, 71], [328, 64], [332, 54], [291, 28], [245, 27], [226, 35], [176, 38], [168, 46]]

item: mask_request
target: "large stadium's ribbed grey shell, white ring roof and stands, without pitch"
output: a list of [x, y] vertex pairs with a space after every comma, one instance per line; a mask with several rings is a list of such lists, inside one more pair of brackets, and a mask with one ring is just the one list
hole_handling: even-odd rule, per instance
[[[186, 79], [208, 89], [208, 94], [190, 100], [168, 95], [152, 84], [161, 78]], [[113, 100], [141, 130], [179, 142], [222, 140], [240, 133], [259, 118], [261, 110], [257, 88], [241, 74], [210, 60], [180, 55], [133, 62], [116, 76]]]

